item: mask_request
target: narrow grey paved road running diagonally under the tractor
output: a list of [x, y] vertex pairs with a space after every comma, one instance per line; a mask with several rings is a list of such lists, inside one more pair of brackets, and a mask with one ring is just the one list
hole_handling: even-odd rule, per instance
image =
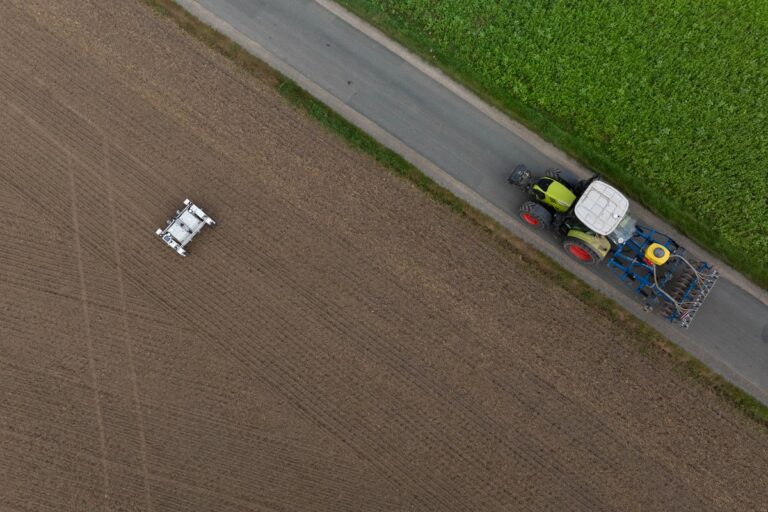
[[[692, 327], [683, 330], [643, 313], [605, 266], [576, 266], [553, 237], [534, 235], [515, 219], [524, 197], [507, 185], [510, 169], [517, 163], [537, 172], [568, 166], [559, 151], [328, 0], [177, 2], [768, 403], [768, 302], [762, 291], [725, 269]], [[646, 224], [664, 226], [638, 205], [633, 211]]]

